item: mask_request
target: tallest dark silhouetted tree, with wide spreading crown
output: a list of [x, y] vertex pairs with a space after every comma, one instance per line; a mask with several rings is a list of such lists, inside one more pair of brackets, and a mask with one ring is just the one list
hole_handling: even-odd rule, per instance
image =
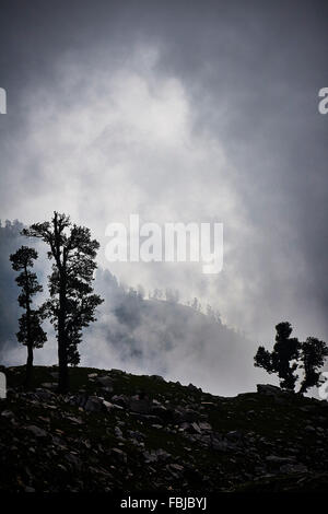
[[103, 300], [93, 294], [92, 281], [96, 269], [95, 257], [99, 244], [91, 238], [84, 226], [72, 225], [66, 214], [54, 213], [50, 222], [35, 223], [22, 231], [28, 237], [38, 237], [49, 247], [52, 260], [49, 277], [50, 300], [47, 313], [57, 331], [60, 393], [69, 387], [68, 364], [80, 361], [78, 344], [82, 328], [95, 322], [95, 309]]

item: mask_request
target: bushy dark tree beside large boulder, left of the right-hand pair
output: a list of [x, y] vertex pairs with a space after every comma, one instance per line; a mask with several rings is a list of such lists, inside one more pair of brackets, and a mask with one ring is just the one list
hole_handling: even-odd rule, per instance
[[297, 379], [297, 375], [295, 375], [297, 362], [295, 361], [300, 357], [300, 341], [297, 338], [290, 337], [293, 328], [288, 322], [279, 323], [276, 330], [273, 351], [269, 352], [263, 347], [259, 347], [254, 358], [255, 365], [263, 367], [268, 373], [277, 373], [280, 378], [280, 387], [294, 390]]

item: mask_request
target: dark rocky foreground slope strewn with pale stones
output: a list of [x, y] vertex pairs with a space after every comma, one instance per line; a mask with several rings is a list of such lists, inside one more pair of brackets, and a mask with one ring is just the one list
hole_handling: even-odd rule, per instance
[[328, 490], [328, 405], [262, 387], [223, 398], [117, 370], [4, 370], [0, 491]]

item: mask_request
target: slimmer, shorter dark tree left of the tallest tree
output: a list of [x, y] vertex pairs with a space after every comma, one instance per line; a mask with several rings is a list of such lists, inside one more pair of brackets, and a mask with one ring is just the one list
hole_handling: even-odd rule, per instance
[[19, 342], [27, 347], [26, 377], [25, 385], [31, 384], [33, 370], [33, 349], [42, 348], [47, 340], [46, 332], [42, 328], [44, 319], [43, 308], [32, 308], [33, 296], [43, 291], [43, 287], [38, 283], [36, 273], [30, 268], [33, 267], [34, 260], [37, 259], [37, 252], [34, 248], [22, 246], [15, 254], [10, 256], [12, 268], [21, 271], [15, 281], [22, 289], [19, 295], [19, 304], [25, 309], [19, 319], [20, 330], [16, 334]]

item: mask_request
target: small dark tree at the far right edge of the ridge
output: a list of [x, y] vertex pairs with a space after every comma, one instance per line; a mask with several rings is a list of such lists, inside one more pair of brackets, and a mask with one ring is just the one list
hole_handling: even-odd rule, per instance
[[328, 357], [328, 347], [325, 341], [308, 337], [302, 343], [301, 367], [304, 370], [304, 377], [300, 393], [306, 393], [311, 387], [319, 385], [320, 373], [318, 370], [324, 365], [326, 357]]

